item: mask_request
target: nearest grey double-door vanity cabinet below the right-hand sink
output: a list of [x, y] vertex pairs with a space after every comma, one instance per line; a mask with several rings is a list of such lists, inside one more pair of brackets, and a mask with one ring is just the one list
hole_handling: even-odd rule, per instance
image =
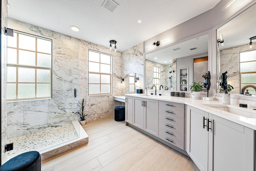
[[187, 152], [201, 171], [253, 171], [254, 130], [187, 107]]

